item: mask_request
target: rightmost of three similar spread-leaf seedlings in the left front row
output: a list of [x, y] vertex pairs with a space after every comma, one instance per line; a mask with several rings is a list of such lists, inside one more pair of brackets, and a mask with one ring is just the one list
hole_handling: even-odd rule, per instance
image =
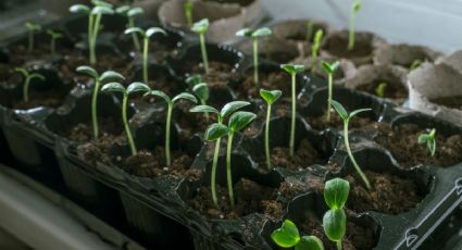
[[193, 103], [197, 103], [197, 99], [196, 99], [195, 96], [192, 96], [188, 92], [178, 93], [176, 97], [171, 99], [164, 92], [159, 91], [159, 90], [150, 90], [149, 92], [145, 93], [145, 96], [160, 97], [160, 98], [164, 99], [165, 102], [167, 103], [167, 113], [166, 113], [166, 123], [165, 123], [165, 159], [166, 159], [166, 165], [170, 166], [172, 164], [172, 160], [171, 160], [171, 157], [170, 157], [170, 137], [171, 137], [170, 128], [171, 128], [171, 124], [172, 124], [173, 105], [175, 104], [176, 101], [178, 101], [180, 99], [189, 100]]

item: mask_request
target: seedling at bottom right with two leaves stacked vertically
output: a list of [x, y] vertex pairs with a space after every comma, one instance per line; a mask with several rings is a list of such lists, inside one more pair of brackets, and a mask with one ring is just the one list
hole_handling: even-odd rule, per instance
[[329, 210], [323, 216], [324, 234], [341, 250], [341, 239], [347, 230], [347, 215], [344, 207], [348, 200], [350, 184], [341, 178], [327, 180], [324, 187], [324, 200]]

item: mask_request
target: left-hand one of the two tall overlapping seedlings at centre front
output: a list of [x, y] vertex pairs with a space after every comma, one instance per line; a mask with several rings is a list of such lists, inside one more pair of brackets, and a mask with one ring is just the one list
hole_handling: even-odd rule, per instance
[[205, 133], [205, 140], [215, 141], [215, 150], [213, 152], [213, 162], [212, 162], [212, 174], [211, 174], [211, 189], [212, 189], [212, 200], [213, 203], [218, 207], [218, 199], [216, 197], [216, 166], [218, 163], [220, 155], [220, 143], [221, 138], [228, 133], [228, 128], [223, 124], [224, 120], [230, 116], [233, 113], [239, 109], [250, 105], [250, 102], [247, 101], [233, 101], [225, 104], [221, 111], [217, 111], [215, 108], [210, 105], [197, 105], [190, 110], [193, 113], [212, 113], [216, 114], [217, 123], [209, 126]]

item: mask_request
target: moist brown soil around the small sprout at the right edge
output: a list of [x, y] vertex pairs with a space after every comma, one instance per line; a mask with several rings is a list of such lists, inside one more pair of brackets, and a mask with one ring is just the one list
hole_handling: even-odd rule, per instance
[[440, 167], [452, 166], [462, 162], [462, 136], [446, 137], [436, 132], [436, 152], [434, 157], [425, 145], [419, 145], [419, 136], [428, 132], [414, 124], [400, 124], [395, 128], [386, 124], [377, 127], [375, 141], [391, 152], [401, 167], [419, 164]]

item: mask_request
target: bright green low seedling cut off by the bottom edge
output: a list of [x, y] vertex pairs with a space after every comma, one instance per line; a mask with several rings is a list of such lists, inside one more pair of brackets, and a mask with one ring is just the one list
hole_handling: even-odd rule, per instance
[[283, 225], [271, 234], [273, 241], [282, 248], [296, 250], [324, 250], [323, 241], [316, 236], [302, 236], [290, 220], [284, 220]]

